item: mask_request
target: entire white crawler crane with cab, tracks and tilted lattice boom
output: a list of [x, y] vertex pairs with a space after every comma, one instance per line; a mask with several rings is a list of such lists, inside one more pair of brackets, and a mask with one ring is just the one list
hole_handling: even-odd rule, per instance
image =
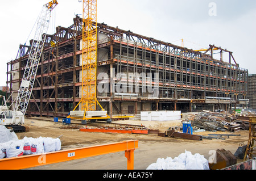
[[26, 131], [26, 127], [22, 124], [24, 124], [24, 116], [30, 101], [44, 42], [46, 41], [46, 33], [51, 19], [51, 11], [57, 4], [58, 2], [53, 0], [43, 6], [42, 12], [37, 20], [35, 36], [31, 45], [27, 65], [24, 69], [22, 82], [20, 83], [18, 90], [18, 96], [16, 96], [11, 106], [7, 107], [5, 102], [5, 105], [0, 109], [0, 125], [11, 127], [14, 129], [14, 132]]

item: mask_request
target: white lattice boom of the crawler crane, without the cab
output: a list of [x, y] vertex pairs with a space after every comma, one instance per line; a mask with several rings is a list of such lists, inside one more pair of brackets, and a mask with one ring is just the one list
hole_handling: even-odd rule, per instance
[[53, 0], [43, 6], [42, 12], [39, 15], [38, 24], [36, 27], [35, 37], [31, 45], [30, 54], [27, 60], [26, 68], [22, 82], [18, 90], [18, 96], [15, 99], [14, 111], [21, 111], [25, 115], [28, 102], [30, 101], [31, 92], [34, 86], [36, 72], [40, 57], [43, 51], [44, 42], [46, 41], [46, 33], [49, 27], [49, 20], [51, 18], [51, 11], [58, 4], [56, 0]]

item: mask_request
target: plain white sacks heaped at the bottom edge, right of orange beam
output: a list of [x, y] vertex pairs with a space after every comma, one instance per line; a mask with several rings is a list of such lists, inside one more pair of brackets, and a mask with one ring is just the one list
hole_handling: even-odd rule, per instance
[[147, 170], [209, 170], [208, 160], [204, 155], [196, 153], [192, 155], [190, 151], [185, 150], [178, 157], [158, 158], [156, 163], [152, 163]]

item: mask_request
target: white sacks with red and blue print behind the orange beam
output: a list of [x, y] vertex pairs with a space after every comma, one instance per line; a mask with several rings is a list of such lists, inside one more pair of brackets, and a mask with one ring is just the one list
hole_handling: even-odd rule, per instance
[[24, 137], [22, 140], [11, 140], [0, 143], [0, 159], [59, 151], [60, 149], [61, 141], [59, 138]]

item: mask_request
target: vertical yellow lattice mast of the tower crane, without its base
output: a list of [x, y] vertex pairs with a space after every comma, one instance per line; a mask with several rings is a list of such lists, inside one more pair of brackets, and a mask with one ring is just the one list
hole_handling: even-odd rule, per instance
[[82, 16], [82, 110], [96, 111], [97, 105], [97, 1], [83, 1]]

